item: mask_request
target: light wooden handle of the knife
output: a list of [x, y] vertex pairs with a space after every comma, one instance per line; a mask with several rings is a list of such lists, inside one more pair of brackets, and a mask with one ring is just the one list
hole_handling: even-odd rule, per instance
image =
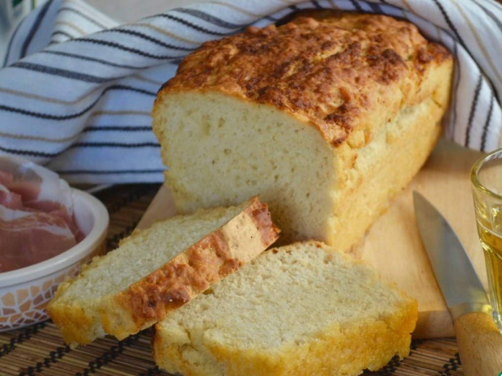
[[453, 325], [465, 376], [497, 376], [502, 372], [502, 335], [490, 315], [465, 313]]

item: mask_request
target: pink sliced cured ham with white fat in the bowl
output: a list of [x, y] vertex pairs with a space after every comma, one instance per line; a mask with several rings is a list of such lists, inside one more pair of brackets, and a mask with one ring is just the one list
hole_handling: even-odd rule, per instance
[[32, 162], [0, 157], [0, 272], [45, 261], [83, 237], [64, 180]]

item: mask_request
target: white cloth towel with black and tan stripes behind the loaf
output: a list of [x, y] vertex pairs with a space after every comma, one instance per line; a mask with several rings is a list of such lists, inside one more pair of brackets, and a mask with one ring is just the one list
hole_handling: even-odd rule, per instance
[[0, 153], [71, 183], [163, 181], [150, 110], [201, 43], [305, 8], [383, 13], [417, 25], [455, 56], [445, 136], [500, 146], [502, 6], [494, 0], [218, 0], [117, 25], [80, 0], [49, 0], [14, 30], [0, 70]]

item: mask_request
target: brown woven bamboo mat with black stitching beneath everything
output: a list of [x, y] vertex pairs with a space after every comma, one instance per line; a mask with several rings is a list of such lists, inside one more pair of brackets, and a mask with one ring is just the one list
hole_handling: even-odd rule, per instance
[[[143, 216], [158, 184], [121, 185], [96, 196], [110, 213], [107, 249], [113, 249]], [[0, 333], [0, 376], [168, 376], [150, 353], [150, 331], [123, 341], [102, 338], [71, 350], [51, 321]], [[364, 376], [462, 376], [458, 348], [452, 338], [413, 341], [410, 355], [393, 359], [378, 372]]]

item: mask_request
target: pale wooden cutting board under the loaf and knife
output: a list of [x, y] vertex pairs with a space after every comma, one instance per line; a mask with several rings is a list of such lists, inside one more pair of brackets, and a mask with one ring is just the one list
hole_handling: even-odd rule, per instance
[[[415, 179], [367, 232], [356, 254], [377, 268], [386, 280], [417, 298], [419, 317], [414, 338], [454, 336], [453, 325], [423, 249], [413, 210], [412, 192], [424, 195], [450, 222], [486, 288], [484, 258], [477, 238], [469, 169], [481, 153], [440, 140]], [[171, 217], [175, 209], [163, 186], [139, 228]]]

